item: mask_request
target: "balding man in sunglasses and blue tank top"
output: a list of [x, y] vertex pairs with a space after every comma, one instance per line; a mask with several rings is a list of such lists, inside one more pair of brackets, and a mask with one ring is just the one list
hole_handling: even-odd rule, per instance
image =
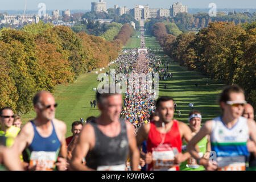
[[41, 91], [34, 96], [33, 104], [36, 118], [23, 126], [14, 145], [18, 145], [20, 154], [26, 150], [28, 157], [24, 161], [28, 163], [27, 169], [65, 170], [67, 126], [55, 119], [55, 98], [51, 93]]

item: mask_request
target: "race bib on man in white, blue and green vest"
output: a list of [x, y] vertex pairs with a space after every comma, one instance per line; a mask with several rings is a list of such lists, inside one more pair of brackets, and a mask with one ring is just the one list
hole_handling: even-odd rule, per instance
[[218, 157], [218, 171], [245, 171], [245, 156]]

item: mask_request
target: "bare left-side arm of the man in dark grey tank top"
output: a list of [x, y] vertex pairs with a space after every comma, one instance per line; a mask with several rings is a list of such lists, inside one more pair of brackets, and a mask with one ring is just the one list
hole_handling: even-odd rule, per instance
[[94, 130], [90, 124], [83, 127], [77, 145], [72, 152], [72, 158], [70, 163], [70, 168], [75, 171], [85, 171], [93, 170], [81, 163], [82, 158], [84, 158], [88, 151], [90, 150], [91, 142], [94, 139]]

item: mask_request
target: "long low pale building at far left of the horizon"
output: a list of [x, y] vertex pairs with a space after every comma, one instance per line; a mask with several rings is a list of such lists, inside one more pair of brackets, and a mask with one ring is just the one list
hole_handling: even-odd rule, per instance
[[39, 15], [4, 15], [1, 23], [10, 23], [10, 24], [22, 24], [26, 23], [38, 23]]

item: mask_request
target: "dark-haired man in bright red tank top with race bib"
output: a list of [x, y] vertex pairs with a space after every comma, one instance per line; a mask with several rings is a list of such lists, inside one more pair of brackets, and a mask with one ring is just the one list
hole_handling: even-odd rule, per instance
[[191, 155], [181, 153], [182, 139], [187, 142], [192, 138], [189, 127], [174, 117], [174, 101], [171, 97], [161, 97], [156, 101], [156, 114], [159, 121], [143, 125], [137, 133], [140, 147], [147, 140], [147, 170], [179, 171], [179, 164]]

